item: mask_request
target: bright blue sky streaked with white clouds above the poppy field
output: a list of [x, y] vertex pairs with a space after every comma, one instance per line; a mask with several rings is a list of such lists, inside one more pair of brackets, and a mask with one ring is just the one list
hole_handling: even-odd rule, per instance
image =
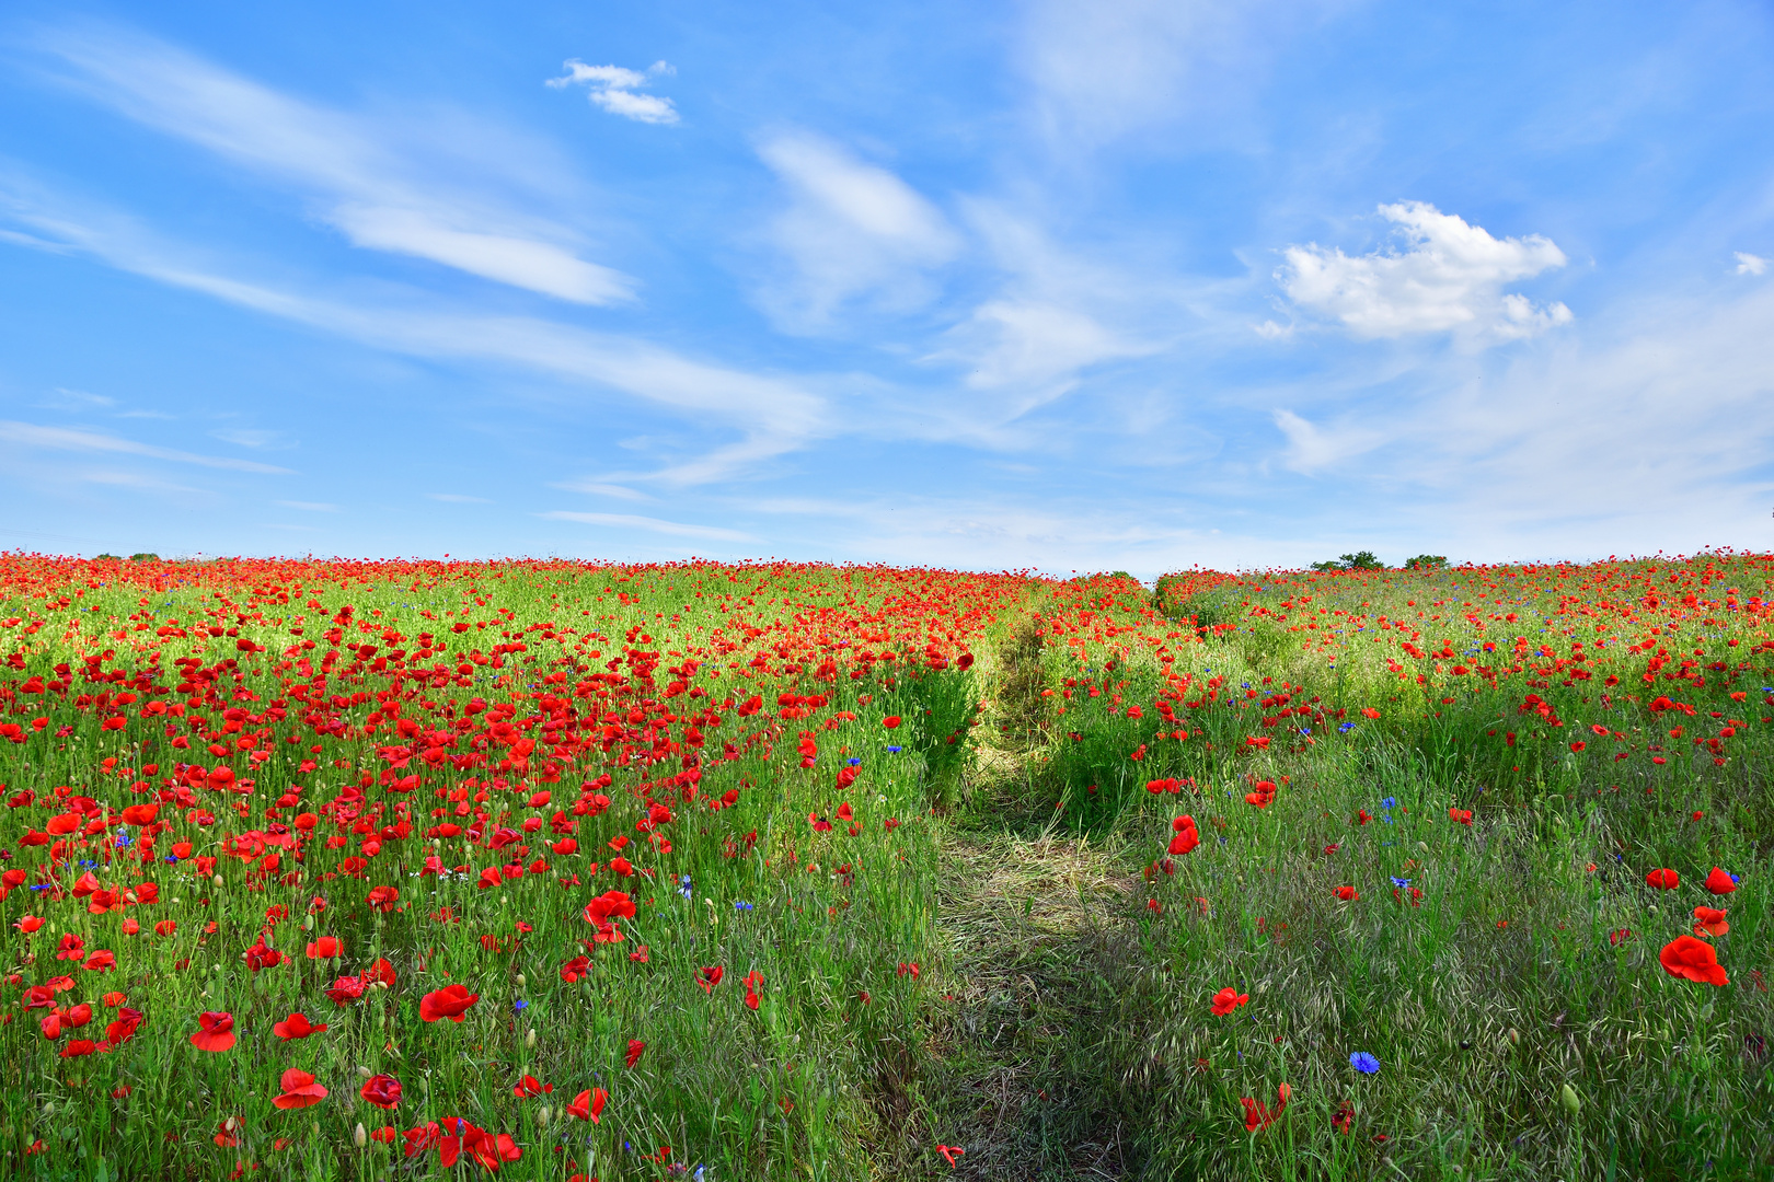
[[0, 548], [1774, 546], [1765, 4], [0, 19]]

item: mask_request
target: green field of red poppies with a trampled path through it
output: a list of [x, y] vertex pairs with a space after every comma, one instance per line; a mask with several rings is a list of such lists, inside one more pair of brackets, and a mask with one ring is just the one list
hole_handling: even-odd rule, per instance
[[1769, 1177], [1770, 571], [4, 555], [4, 1170]]

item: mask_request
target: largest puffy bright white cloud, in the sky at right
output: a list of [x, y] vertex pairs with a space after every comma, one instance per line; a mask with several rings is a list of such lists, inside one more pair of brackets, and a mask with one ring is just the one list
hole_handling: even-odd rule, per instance
[[1316, 243], [1283, 250], [1276, 271], [1300, 308], [1339, 321], [1362, 338], [1458, 333], [1513, 340], [1568, 324], [1563, 303], [1535, 305], [1504, 284], [1565, 266], [1549, 237], [1492, 237], [1426, 202], [1380, 206], [1403, 248], [1345, 255]]

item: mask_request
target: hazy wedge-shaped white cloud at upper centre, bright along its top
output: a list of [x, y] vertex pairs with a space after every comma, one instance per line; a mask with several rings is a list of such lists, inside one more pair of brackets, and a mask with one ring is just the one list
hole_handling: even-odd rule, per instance
[[933, 294], [928, 271], [960, 253], [942, 211], [880, 165], [804, 133], [765, 140], [757, 154], [789, 195], [766, 230], [788, 264], [765, 291], [779, 321], [814, 328], [859, 296], [917, 307]]

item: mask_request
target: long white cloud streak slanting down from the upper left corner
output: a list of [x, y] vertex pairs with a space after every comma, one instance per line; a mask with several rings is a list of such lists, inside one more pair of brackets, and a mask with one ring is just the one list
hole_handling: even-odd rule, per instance
[[[296, 188], [353, 246], [573, 303], [633, 296], [630, 276], [578, 257], [573, 229], [527, 209], [557, 204], [571, 184], [516, 147], [522, 136], [459, 121], [428, 144], [412, 126], [282, 94], [115, 25], [73, 21], [32, 44], [57, 82], [92, 101]], [[513, 202], [500, 186], [523, 191]]]

